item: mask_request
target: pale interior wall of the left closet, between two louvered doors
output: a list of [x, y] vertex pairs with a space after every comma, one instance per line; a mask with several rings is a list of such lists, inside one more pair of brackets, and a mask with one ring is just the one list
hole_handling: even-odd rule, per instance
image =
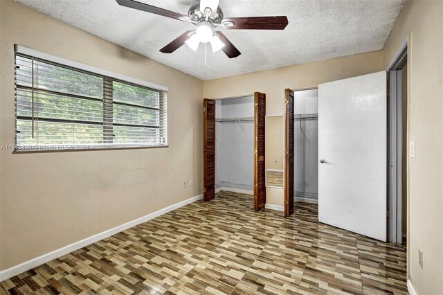
[[215, 106], [215, 184], [253, 193], [254, 98], [225, 98]]

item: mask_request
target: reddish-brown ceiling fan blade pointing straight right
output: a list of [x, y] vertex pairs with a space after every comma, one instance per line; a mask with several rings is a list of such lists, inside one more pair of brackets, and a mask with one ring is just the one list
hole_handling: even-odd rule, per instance
[[229, 30], [284, 30], [288, 24], [287, 17], [230, 17], [221, 21]]

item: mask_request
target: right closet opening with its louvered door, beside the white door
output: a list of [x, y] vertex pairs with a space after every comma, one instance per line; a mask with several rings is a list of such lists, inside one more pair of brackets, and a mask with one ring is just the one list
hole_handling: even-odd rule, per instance
[[285, 90], [284, 215], [318, 215], [318, 89]]

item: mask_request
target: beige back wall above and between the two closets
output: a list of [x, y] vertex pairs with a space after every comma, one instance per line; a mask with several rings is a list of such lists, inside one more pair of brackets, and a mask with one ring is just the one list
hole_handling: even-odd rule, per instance
[[[266, 93], [266, 115], [282, 115], [284, 89], [305, 89], [318, 84], [383, 70], [383, 53], [359, 55], [298, 64], [204, 82], [206, 98], [228, 98], [260, 91]], [[283, 190], [266, 188], [266, 203], [283, 206]]]

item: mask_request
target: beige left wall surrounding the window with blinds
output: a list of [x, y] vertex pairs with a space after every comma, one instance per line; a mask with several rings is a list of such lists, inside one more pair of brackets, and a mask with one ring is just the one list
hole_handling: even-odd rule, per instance
[[[1, 145], [14, 144], [14, 44], [169, 87], [168, 148], [1, 150], [0, 269], [201, 193], [201, 80], [1, 0]], [[182, 188], [182, 181], [194, 186]]]

